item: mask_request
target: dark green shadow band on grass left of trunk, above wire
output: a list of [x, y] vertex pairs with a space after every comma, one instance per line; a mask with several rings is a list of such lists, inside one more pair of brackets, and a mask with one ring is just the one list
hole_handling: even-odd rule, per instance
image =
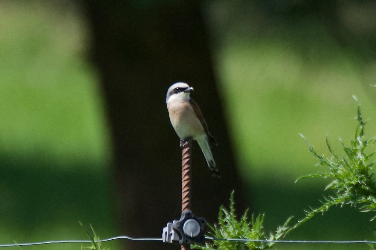
[[[98, 171], [97, 166], [91, 166], [91, 170], [91, 167], [84, 165], [74, 166], [73, 171], [62, 171], [40, 162], [32, 163], [31, 160], [27, 165], [14, 162], [17, 160], [0, 159], [2, 226], [17, 228], [24, 235], [29, 235], [41, 225], [51, 227], [61, 223], [62, 227], [77, 228], [74, 230], [76, 232], [81, 230], [80, 235], [85, 237], [78, 223], [80, 221], [85, 226], [91, 223], [103, 238], [113, 236], [111, 226], [114, 214], [109, 206], [113, 190], [105, 171]], [[80, 236], [76, 235], [76, 238]], [[20, 235], [14, 235], [9, 240], [20, 242], [23, 239]], [[2, 238], [2, 243], [5, 241]]]

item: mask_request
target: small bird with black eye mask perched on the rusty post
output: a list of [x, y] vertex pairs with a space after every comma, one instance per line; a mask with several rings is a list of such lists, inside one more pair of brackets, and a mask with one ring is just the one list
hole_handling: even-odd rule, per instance
[[180, 146], [187, 138], [197, 141], [212, 176], [221, 177], [211, 151], [211, 145], [218, 145], [218, 143], [209, 133], [199, 105], [190, 97], [192, 91], [193, 87], [185, 82], [176, 82], [168, 88], [166, 104], [171, 124], [181, 140]]

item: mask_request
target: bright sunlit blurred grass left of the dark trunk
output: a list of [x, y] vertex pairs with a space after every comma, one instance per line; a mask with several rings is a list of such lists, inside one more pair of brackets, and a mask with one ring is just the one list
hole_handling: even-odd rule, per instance
[[103, 165], [109, 142], [83, 17], [69, 2], [2, 1], [0, 143], [3, 155]]

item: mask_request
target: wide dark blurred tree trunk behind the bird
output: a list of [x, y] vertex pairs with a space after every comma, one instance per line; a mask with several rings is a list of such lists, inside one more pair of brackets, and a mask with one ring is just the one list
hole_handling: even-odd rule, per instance
[[[215, 222], [232, 189], [240, 212], [247, 206], [218, 96], [211, 52], [198, 1], [84, 1], [94, 35], [91, 53], [102, 77], [112, 126], [114, 175], [121, 234], [161, 237], [180, 217], [181, 150], [168, 119], [167, 88], [177, 81], [195, 88], [219, 146], [213, 148], [223, 177], [210, 175], [193, 146], [193, 205]], [[128, 249], [179, 249], [127, 242]]]

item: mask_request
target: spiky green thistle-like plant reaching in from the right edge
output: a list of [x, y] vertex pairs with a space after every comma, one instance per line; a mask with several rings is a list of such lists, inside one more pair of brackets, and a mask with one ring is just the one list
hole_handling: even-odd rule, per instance
[[[356, 101], [358, 102], [358, 100]], [[364, 126], [366, 122], [362, 118], [359, 102], [358, 115], [355, 119], [358, 121], [358, 126], [355, 129], [355, 136], [350, 143], [350, 147], [344, 145], [340, 140], [345, 152], [343, 157], [335, 154], [328, 140], [326, 140], [331, 157], [324, 159], [323, 156], [318, 155], [314, 151], [313, 147], [302, 136], [309, 147], [309, 151], [318, 159], [317, 166], [324, 166], [328, 171], [301, 178], [332, 178], [332, 182], [326, 189], [332, 189], [334, 192], [333, 195], [324, 198], [321, 207], [305, 211], [305, 218], [300, 220], [290, 230], [306, 222], [316, 214], [326, 212], [334, 205], [340, 205], [341, 207], [350, 205], [361, 212], [376, 212], [376, 183], [372, 173], [372, 166], [374, 164], [372, 156], [374, 153], [368, 154], [366, 152], [366, 148], [374, 143], [375, 138], [364, 138]], [[371, 220], [374, 219], [376, 219], [376, 215]]]

